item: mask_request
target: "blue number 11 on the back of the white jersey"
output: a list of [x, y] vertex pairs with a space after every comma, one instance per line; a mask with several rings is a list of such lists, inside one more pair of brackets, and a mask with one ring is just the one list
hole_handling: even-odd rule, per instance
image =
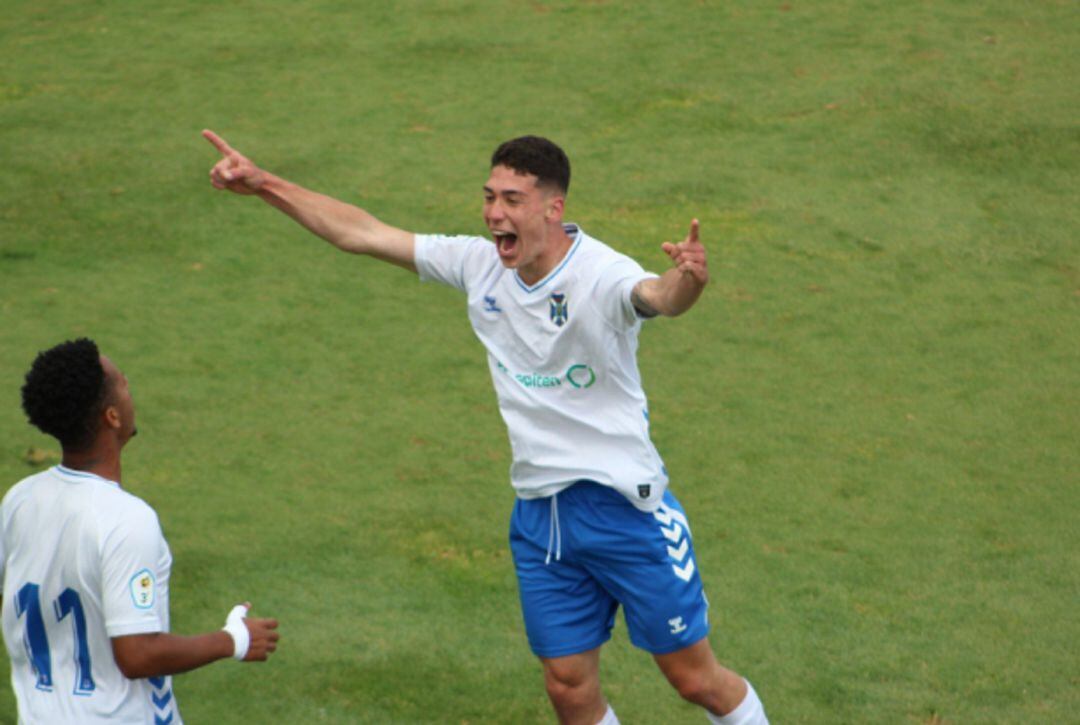
[[[90, 667], [90, 644], [86, 641], [86, 615], [82, 610], [79, 592], [68, 588], [53, 602], [56, 621], [71, 615], [75, 632], [76, 695], [91, 695], [94, 692], [94, 676]], [[49, 652], [49, 636], [45, 620], [41, 615], [41, 587], [36, 583], [23, 585], [15, 596], [15, 613], [26, 615], [26, 632], [23, 644], [30, 657], [33, 671], [38, 673], [37, 688], [53, 692], [53, 659]]]

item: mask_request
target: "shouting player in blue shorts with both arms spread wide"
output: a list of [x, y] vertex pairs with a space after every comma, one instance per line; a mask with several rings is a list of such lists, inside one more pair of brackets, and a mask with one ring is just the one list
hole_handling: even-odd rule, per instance
[[510, 432], [517, 495], [511, 549], [529, 645], [563, 723], [617, 723], [599, 684], [600, 646], [622, 605], [651, 653], [714, 723], [766, 723], [753, 687], [720, 667], [690, 526], [649, 439], [637, 371], [642, 320], [681, 314], [708, 271], [698, 220], [665, 243], [673, 267], [639, 265], [564, 221], [570, 164], [552, 142], [499, 146], [480, 237], [416, 234], [255, 165], [212, 131], [218, 189], [255, 194], [335, 246], [457, 287], [487, 348]]

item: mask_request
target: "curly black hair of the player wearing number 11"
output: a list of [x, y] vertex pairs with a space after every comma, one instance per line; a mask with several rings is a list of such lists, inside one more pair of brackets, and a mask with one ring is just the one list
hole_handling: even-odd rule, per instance
[[23, 410], [66, 451], [82, 451], [94, 442], [107, 395], [102, 353], [80, 337], [38, 353], [23, 385]]

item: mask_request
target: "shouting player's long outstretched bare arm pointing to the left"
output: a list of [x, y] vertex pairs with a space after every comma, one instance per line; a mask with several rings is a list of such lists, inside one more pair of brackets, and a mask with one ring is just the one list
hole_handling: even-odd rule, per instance
[[416, 271], [413, 232], [391, 227], [359, 206], [311, 191], [259, 169], [213, 131], [203, 131], [203, 136], [221, 155], [210, 172], [214, 188], [257, 196], [339, 250], [367, 254]]

